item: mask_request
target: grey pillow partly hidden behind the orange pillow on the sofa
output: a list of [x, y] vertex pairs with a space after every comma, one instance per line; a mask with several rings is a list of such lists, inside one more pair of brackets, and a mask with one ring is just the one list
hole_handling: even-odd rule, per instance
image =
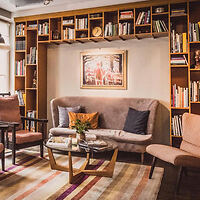
[[69, 115], [68, 112], [80, 113], [81, 106], [76, 107], [61, 107], [58, 106], [58, 114], [59, 114], [59, 128], [67, 128], [69, 127]]

